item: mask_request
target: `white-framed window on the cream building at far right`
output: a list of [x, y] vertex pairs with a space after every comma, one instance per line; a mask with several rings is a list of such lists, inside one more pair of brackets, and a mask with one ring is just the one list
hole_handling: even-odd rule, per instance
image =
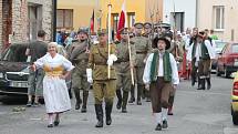
[[224, 6], [215, 6], [214, 7], [214, 27], [215, 29], [224, 29], [224, 20], [225, 20], [225, 7]]

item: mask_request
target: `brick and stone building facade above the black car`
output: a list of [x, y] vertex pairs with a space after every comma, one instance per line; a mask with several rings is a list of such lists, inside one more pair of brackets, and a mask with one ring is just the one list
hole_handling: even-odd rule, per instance
[[52, 0], [0, 0], [0, 44], [29, 42], [40, 29], [52, 39]]

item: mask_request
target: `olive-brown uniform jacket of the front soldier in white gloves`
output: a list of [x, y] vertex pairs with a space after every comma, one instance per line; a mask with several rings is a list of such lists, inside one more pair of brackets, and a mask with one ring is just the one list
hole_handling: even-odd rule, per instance
[[[93, 70], [93, 80], [108, 80], [107, 76], [107, 44], [95, 44], [91, 48], [87, 68]], [[110, 54], [115, 54], [115, 45], [111, 44]], [[111, 80], [116, 79], [114, 65], [111, 66]]]

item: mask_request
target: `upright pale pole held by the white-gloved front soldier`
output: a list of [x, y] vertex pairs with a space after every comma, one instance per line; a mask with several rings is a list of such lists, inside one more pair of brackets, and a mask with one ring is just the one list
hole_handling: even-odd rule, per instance
[[[108, 4], [108, 55], [107, 59], [110, 59], [110, 52], [111, 52], [111, 12], [112, 12], [112, 4], [110, 2]], [[107, 78], [111, 78], [111, 66], [107, 65]]]

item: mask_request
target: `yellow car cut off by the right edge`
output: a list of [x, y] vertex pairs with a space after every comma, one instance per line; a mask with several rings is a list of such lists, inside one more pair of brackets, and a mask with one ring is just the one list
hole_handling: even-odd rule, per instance
[[234, 86], [231, 92], [231, 116], [235, 125], [238, 125], [238, 72], [234, 78]]

